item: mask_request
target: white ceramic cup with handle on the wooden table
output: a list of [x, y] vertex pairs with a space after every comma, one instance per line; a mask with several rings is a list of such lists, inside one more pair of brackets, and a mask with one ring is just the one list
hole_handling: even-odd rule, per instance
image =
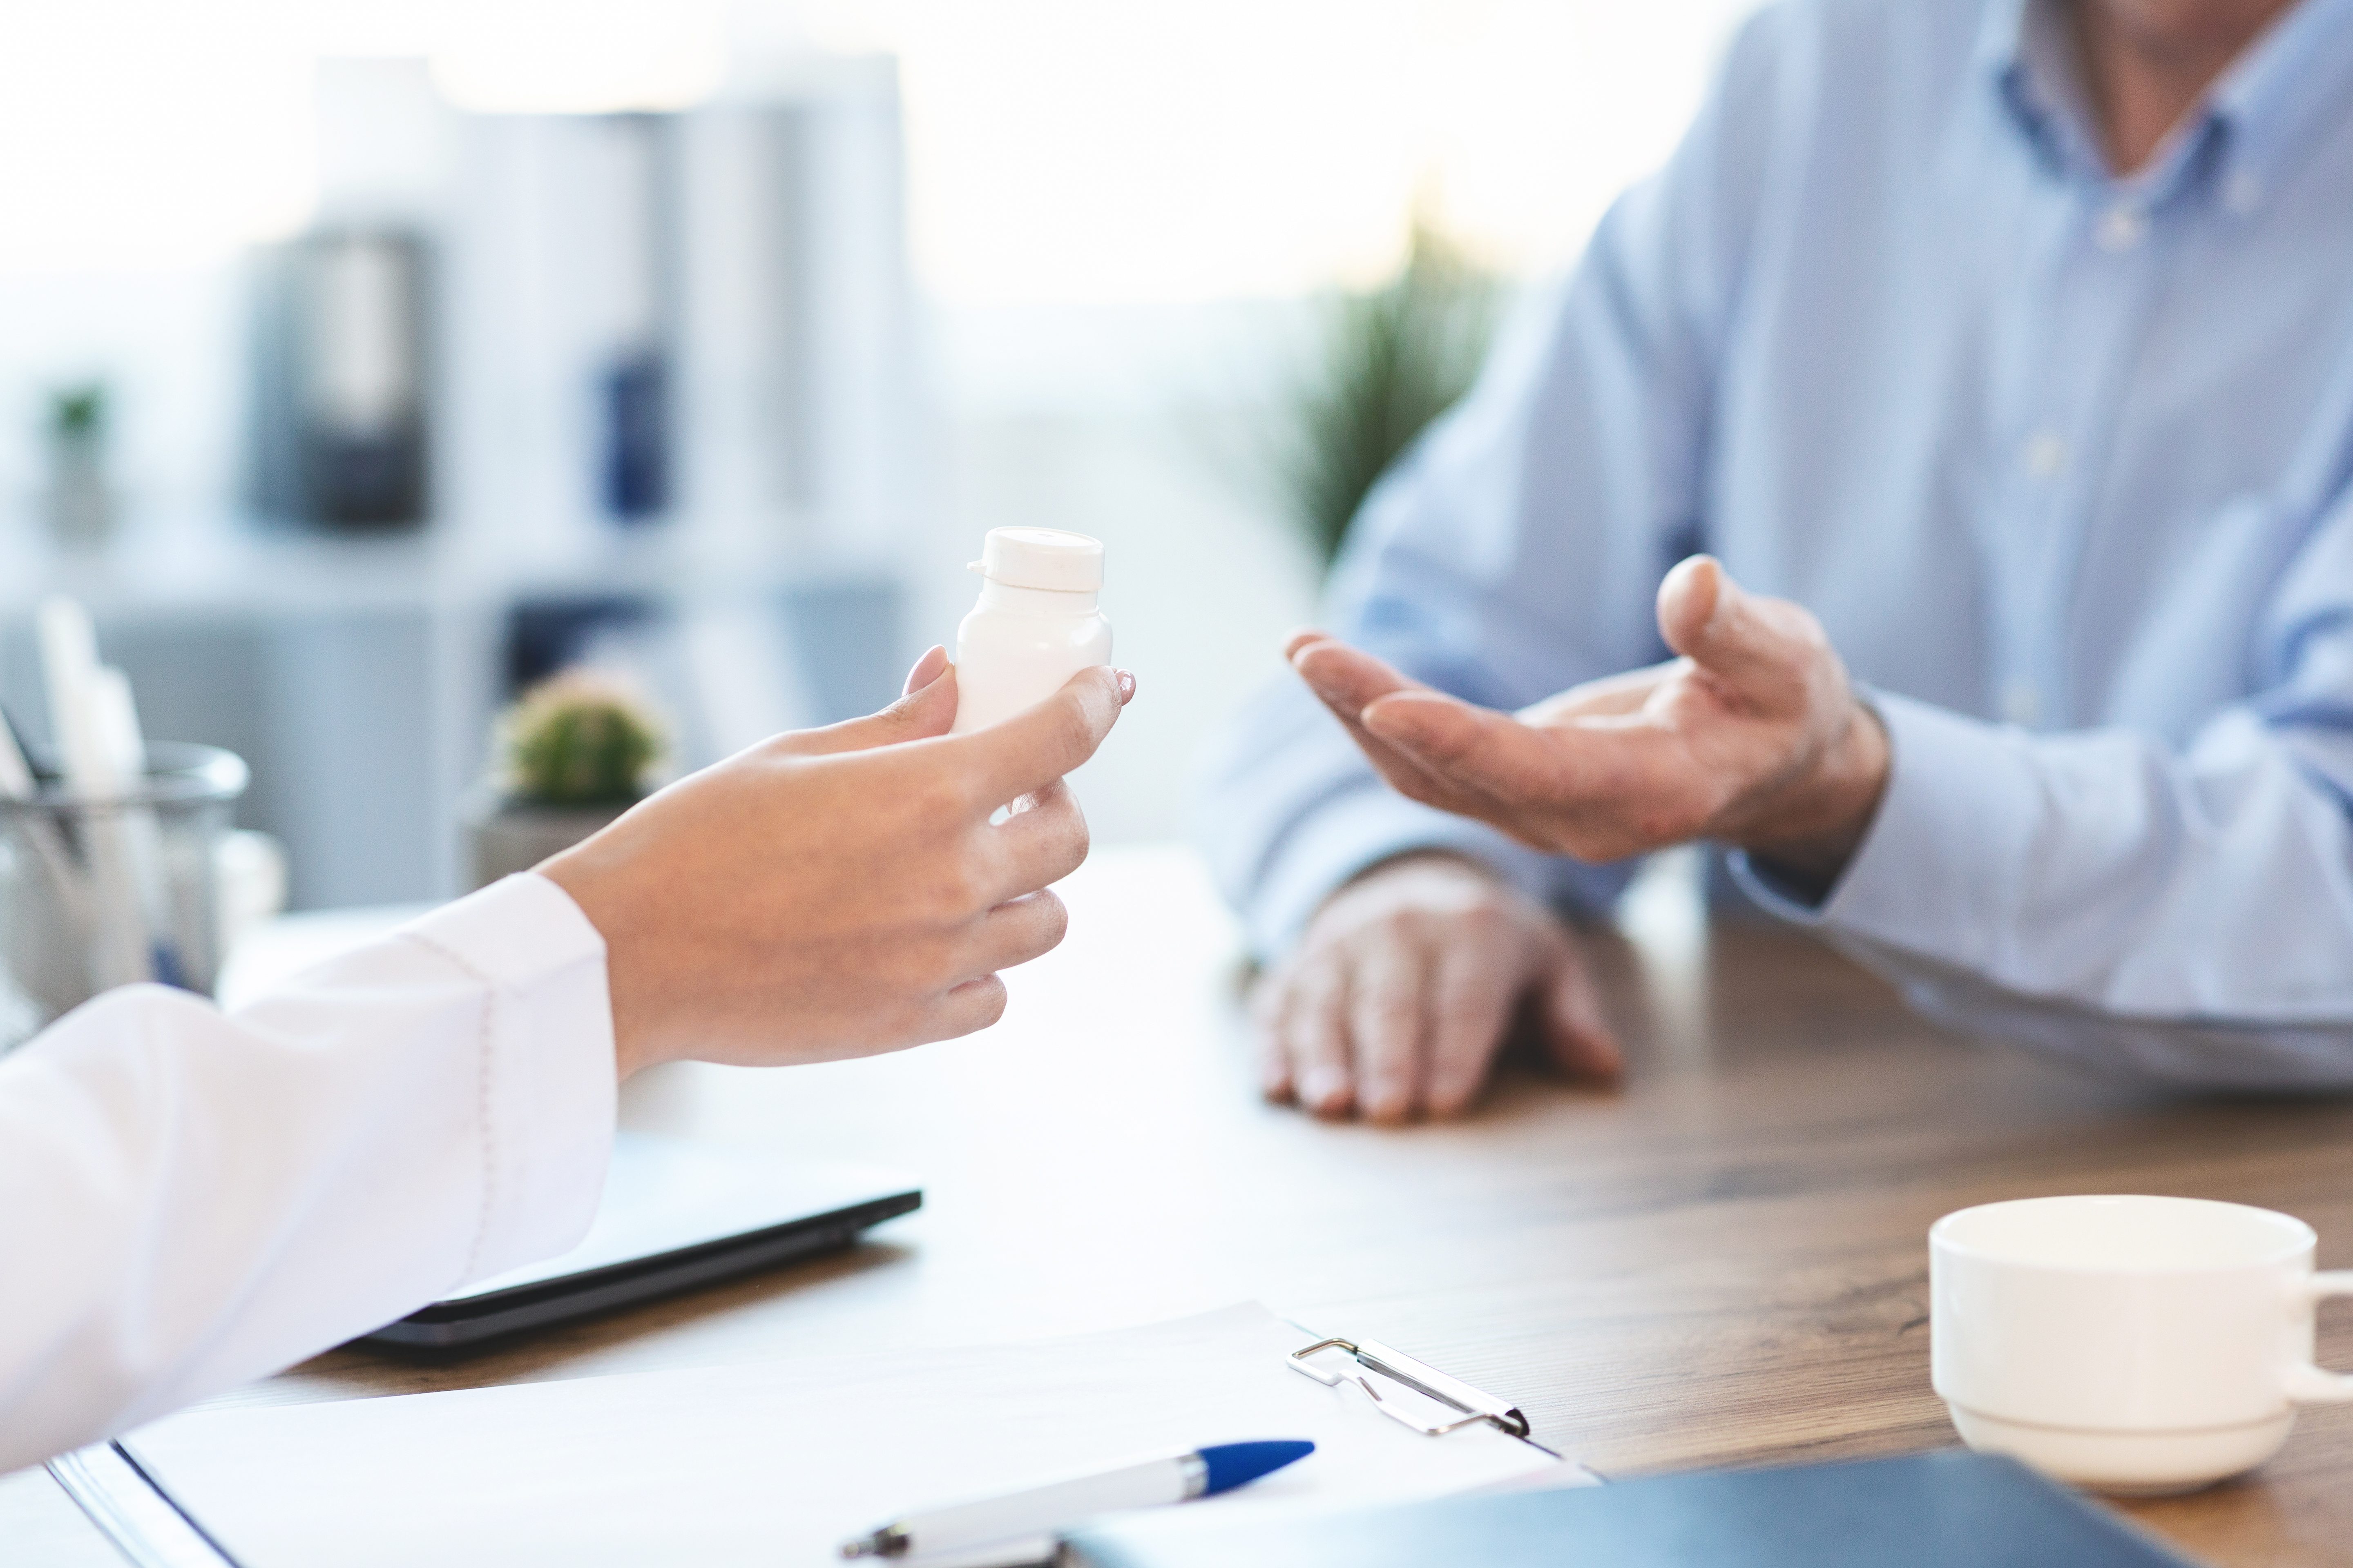
[[2313, 1227], [2268, 1208], [2057, 1197], [1927, 1232], [1929, 1361], [1969, 1448], [2064, 1481], [2188, 1490], [2254, 1469], [2297, 1401], [2353, 1399], [2313, 1366]]

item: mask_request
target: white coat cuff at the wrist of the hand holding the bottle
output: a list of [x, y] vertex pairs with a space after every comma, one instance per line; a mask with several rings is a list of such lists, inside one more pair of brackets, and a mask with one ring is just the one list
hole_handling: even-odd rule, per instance
[[485, 990], [482, 1229], [466, 1279], [574, 1246], [612, 1157], [616, 1077], [605, 938], [534, 872], [409, 922]]

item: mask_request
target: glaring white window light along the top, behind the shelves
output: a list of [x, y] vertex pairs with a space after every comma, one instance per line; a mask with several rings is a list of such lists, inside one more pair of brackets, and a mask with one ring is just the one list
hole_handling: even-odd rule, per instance
[[1285, 296], [1421, 200], [1572, 256], [1753, 0], [73, 0], [0, 12], [0, 273], [221, 256], [306, 219], [311, 61], [482, 110], [673, 108], [746, 42], [901, 59], [918, 275], [948, 303]]

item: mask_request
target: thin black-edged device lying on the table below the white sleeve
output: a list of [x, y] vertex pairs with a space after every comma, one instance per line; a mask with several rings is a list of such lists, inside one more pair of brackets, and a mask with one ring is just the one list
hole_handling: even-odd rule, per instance
[[579, 1246], [482, 1279], [355, 1342], [471, 1349], [831, 1253], [920, 1206], [922, 1190], [894, 1171], [621, 1133], [605, 1201]]

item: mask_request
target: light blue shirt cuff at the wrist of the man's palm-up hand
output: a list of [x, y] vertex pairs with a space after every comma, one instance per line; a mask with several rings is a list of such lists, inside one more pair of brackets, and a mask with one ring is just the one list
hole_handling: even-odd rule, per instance
[[1873, 693], [1887, 726], [1887, 795], [1847, 870], [1814, 905], [1746, 853], [1741, 889], [1774, 914], [1988, 973], [2017, 929], [2019, 867], [2042, 788], [2028, 736]]

